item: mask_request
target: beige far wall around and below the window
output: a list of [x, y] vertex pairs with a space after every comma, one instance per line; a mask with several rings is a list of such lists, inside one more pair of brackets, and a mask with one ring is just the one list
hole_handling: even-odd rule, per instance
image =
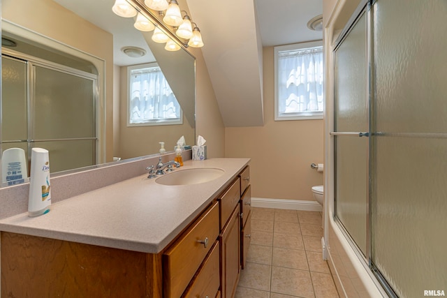
[[323, 184], [323, 120], [274, 121], [273, 47], [263, 49], [264, 126], [225, 129], [225, 156], [251, 158], [255, 198], [314, 200], [312, 186]]

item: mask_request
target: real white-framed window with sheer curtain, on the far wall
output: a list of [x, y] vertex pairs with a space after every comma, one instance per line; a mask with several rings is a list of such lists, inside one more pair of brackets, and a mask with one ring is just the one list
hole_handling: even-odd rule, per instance
[[323, 119], [321, 42], [274, 47], [274, 120]]

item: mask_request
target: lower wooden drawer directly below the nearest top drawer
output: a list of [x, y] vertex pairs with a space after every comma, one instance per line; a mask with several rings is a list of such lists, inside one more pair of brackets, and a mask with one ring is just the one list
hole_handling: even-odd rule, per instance
[[203, 267], [198, 271], [194, 281], [186, 290], [183, 297], [216, 297], [219, 292], [220, 270], [219, 270], [219, 241], [214, 243], [210, 255], [203, 261]]

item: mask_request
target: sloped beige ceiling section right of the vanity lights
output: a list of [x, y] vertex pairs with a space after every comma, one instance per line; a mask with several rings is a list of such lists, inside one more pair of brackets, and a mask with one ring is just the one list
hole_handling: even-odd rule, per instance
[[193, 22], [203, 28], [203, 57], [224, 125], [263, 126], [262, 46], [254, 2], [187, 3]]

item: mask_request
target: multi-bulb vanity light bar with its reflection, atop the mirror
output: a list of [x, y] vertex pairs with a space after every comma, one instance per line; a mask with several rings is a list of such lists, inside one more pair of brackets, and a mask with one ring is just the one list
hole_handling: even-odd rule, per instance
[[[170, 0], [169, 4], [168, 0], [145, 0], [144, 4], [141, 0], [115, 0], [112, 10], [122, 17], [137, 15], [133, 26], [140, 31], [154, 30], [152, 40], [156, 43], [168, 43], [168, 40], [171, 40], [179, 48], [180, 46], [203, 47], [197, 24], [191, 22], [191, 17], [185, 10], [180, 10], [177, 0]], [[158, 13], [154, 13], [154, 10]], [[182, 17], [182, 11], [185, 14], [184, 17]], [[177, 46], [175, 48], [179, 50]], [[165, 48], [168, 50], [174, 47], [170, 43]]]

